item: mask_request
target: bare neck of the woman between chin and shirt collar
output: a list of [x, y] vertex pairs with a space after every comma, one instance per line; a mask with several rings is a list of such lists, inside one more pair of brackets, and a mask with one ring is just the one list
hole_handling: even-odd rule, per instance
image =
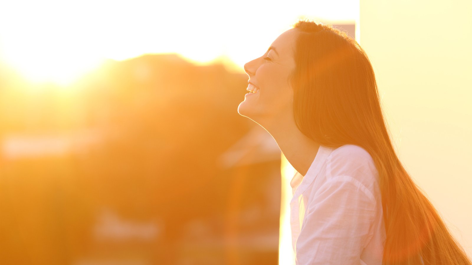
[[261, 126], [272, 135], [290, 165], [304, 176], [312, 165], [320, 144], [300, 132], [292, 113], [262, 123]]

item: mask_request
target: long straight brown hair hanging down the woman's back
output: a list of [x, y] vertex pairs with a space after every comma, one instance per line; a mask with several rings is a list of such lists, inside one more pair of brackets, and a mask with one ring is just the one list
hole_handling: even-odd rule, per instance
[[379, 172], [387, 239], [384, 265], [471, 265], [464, 249], [413, 182], [392, 146], [371, 63], [359, 44], [331, 25], [293, 26], [294, 118], [321, 145], [362, 147]]

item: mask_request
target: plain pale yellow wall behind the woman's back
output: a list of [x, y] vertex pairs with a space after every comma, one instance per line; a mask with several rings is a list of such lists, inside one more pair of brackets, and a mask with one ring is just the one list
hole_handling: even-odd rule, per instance
[[360, 0], [401, 161], [472, 257], [472, 1]]

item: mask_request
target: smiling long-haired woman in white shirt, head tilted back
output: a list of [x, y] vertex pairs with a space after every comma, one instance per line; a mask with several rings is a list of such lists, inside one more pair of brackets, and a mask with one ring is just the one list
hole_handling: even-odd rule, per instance
[[244, 69], [252, 92], [238, 113], [264, 127], [298, 172], [297, 265], [471, 264], [396, 156], [356, 41], [298, 21]]

